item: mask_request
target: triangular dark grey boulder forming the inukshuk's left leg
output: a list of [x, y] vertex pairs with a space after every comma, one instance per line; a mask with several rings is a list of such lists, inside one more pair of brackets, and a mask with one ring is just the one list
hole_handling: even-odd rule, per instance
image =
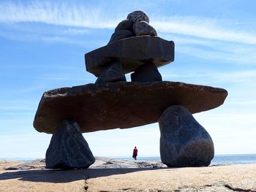
[[48, 169], [86, 169], [95, 161], [74, 120], [63, 120], [53, 133], [46, 152]]

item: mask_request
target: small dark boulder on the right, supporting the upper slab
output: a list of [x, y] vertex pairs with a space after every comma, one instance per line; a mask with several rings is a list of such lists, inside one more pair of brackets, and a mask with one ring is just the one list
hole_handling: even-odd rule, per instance
[[157, 66], [152, 63], [139, 66], [134, 73], [131, 74], [132, 82], [154, 82], [162, 81]]

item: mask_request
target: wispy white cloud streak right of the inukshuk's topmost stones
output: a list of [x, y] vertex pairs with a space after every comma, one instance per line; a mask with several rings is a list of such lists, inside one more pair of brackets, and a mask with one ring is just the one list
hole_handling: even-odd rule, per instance
[[213, 20], [211, 18], [172, 17], [155, 18], [152, 25], [160, 32], [183, 34], [192, 37], [221, 41], [256, 44], [255, 34], [241, 28], [234, 28], [233, 20]]

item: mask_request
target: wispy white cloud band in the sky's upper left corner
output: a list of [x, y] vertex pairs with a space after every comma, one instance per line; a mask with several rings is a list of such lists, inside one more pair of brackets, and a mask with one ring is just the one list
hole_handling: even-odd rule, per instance
[[[104, 10], [83, 4], [55, 1], [20, 1], [0, 3], [0, 22], [39, 22], [60, 26], [113, 28], [115, 23], [106, 20]], [[117, 19], [117, 18], [116, 18]]]

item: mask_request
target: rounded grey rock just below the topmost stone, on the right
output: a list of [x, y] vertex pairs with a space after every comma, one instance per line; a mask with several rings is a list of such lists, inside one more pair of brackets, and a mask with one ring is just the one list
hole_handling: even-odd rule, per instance
[[133, 24], [133, 31], [136, 36], [140, 35], [151, 35], [151, 36], [157, 36], [157, 31], [146, 21], [140, 21], [135, 22]]

